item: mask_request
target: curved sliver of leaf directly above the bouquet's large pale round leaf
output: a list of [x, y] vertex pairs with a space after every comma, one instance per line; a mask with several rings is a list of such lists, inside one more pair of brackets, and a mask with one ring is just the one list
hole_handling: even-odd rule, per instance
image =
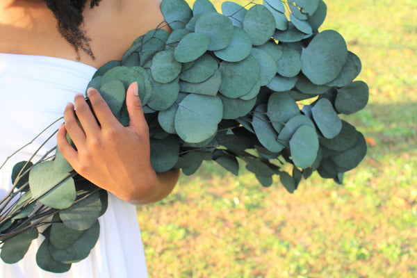
[[217, 95], [222, 83], [222, 74], [220, 70], [216, 70], [209, 79], [201, 83], [188, 83], [182, 82], [179, 83], [179, 89], [181, 92], [192, 92], [200, 95]]

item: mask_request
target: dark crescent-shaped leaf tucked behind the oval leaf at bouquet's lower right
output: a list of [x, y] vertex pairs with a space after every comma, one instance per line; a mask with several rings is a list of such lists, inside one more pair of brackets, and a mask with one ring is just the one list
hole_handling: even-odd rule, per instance
[[332, 139], [320, 138], [320, 144], [327, 149], [342, 152], [349, 149], [357, 141], [358, 132], [348, 122], [342, 120], [342, 129], [338, 135]]

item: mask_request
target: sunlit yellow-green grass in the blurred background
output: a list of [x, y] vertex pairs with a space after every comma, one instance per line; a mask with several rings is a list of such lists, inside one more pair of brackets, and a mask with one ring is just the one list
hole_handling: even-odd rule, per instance
[[370, 86], [347, 117], [368, 155], [343, 186], [315, 174], [293, 195], [204, 164], [138, 207], [149, 277], [417, 277], [417, 2], [326, 3], [321, 30], [343, 35]]

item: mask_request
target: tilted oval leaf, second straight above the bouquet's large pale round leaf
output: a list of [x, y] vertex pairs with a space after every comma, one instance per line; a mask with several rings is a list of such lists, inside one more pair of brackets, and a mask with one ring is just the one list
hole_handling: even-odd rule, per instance
[[181, 72], [179, 78], [190, 83], [200, 83], [213, 76], [219, 67], [217, 60], [210, 54], [204, 54], [188, 69]]

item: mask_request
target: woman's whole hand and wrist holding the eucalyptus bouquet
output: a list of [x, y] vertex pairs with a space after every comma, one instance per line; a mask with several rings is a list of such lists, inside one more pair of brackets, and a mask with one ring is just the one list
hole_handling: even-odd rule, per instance
[[[67, 104], [65, 125], [58, 131], [58, 148], [74, 170], [95, 185], [133, 204], [157, 202], [166, 197], [179, 178], [178, 170], [156, 174], [150, 161], [149, 129], [138, 97], [138, 83], [127, 90], [129, 126], [111, 113], [97, 90], [88, 97], [97, 120], [83, 95]], [[81, 123], [77, 121], [77, 118]], [[72, 147], [66, 138], [70, 135]]]

